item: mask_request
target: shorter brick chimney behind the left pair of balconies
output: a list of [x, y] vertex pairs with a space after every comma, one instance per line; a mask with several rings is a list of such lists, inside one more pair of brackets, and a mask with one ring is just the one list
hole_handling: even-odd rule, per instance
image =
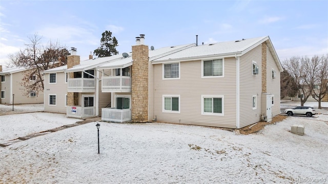
[[[76, 55], [76, 48], [71, 48], [71, 55], [67, 56], [67, 69], [80, 64], [80, 56]], [[74, 78], [74, 73], [69, 73], [69, 78]], [[78, 93], [67, 92], [67, 106], [78, 104]]]

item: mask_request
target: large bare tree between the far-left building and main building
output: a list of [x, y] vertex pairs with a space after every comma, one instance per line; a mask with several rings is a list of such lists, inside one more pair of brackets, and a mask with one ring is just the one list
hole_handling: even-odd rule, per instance
[[44, 78], [42, 72], [54, 67], [67, 64], [67, 49], [58, 42], [51, 41], [43, 46], [42, 37], [34, 34], [29, 37], [30, 43], [25, 44], [26, 48], [17, 54], [11, 55], [10, 59], [15, 66], [24, 67], [28, 70], [24, 72], [21, 82], [25, 87], [25, 94], [29, 95], [34, 91], [38, 95], [39, 91], [44, 90]]

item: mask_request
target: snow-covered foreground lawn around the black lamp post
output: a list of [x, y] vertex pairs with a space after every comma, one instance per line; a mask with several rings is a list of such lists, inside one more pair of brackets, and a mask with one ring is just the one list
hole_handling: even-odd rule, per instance
[[[49, 120], [60, 117], [53, 115]], [[322, 120], [289, 117], [250, 135], [100, 122], [100, 154], [92, 122], [0, 148], [0, 183], [291, 183], [298, 177], [326, 183], [328, 125]], [[305, 126], [305, 135], [289, 132], [295, 123]]]

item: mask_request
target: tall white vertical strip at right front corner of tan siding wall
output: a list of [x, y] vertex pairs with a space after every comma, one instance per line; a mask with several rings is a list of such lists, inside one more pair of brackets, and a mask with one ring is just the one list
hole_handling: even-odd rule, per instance
[[239, 56], [236, 58], [236, 128], [240, 128], [240, 60]]

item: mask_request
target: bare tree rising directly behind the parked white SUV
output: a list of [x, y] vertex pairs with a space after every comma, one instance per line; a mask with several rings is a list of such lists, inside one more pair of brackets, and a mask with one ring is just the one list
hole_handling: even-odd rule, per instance
[[312, 96], [315, 75], [319, 61], [308, 57], [292, 57], [284, 62], [285, 69], [291, 74], [298, 86], [301, 106]]

